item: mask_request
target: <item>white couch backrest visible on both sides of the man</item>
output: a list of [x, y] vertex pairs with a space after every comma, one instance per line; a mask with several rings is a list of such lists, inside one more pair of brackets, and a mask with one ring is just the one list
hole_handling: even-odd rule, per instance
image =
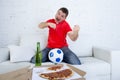
[[[41, 49], [44, 49], [47, 44], [47, 35], [46, 34], [27, 34], [22, 35], [20, 38], [20, 45], [31, 46], [36, 49], [36, 43], [40, 42]], [[67, 41], [69, 44], [69, 48], [77, 55], [77, 56], [92, 56], [92, 47], [90, 45], [86, 45], [85, 42], [81, 41], [81, 39], [77, 39], [77, 41], [72, 42], [68, 37]]]

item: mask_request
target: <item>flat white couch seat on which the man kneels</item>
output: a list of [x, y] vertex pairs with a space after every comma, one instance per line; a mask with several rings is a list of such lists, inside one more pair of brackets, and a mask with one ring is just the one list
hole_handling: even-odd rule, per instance
[[[94, 76], [102, 76], [102, 75], [109, 75], [110, 74], [110, 64], [99, 60], [94, 57], [83, 57], [80, 58], [81, 65], [74, 65], [78, 69], [81, 69], [85, 71], [87, 74], [85, 75], [87, 77], [94, 77]], [[48, 65], [53, 64], [51, 62], [45, 62], [42, 63], [42, 65]], [[0, 74], [14, 71], [23, 67], [31, 66], [33, 67], [34, 64], [29, 62], [17, 62], [12, 63], [10, 61], [2, 62], [0, 63]], [[89, 76], [88, 76], [89, 75]]]

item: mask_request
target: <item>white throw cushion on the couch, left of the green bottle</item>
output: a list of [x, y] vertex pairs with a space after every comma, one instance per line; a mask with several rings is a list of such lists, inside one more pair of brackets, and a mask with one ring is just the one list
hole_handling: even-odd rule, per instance
[[29, 46], [9, 45], [8, 48], [10, 49], [11, 62], [30, 61], [35, 55], [35, 50]]

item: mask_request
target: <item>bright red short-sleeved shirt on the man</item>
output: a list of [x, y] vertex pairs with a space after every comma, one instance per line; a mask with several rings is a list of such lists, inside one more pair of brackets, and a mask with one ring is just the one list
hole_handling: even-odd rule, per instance
[[[47, 22], [55, 23], [54, 19], [49, 19]], [[71, 31], [69, 24], [64, 20], [59, 24], [56, 24], [56, 28], [53, 29], [50, 26], [49, 28], [49, 36], [48, 36], [48, 48], [62, 48], [68, 46], [66, 41], [67, 32]]]

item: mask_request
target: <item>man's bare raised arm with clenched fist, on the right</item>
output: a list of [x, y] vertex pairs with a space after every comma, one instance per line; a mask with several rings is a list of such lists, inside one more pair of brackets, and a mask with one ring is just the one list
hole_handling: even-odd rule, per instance
[[78, 32], [80, 30], [79, 25], [75, 25], [72, 31], [69, 31], [67, 34], [72, 41], [76, 41], [78, 38]]

